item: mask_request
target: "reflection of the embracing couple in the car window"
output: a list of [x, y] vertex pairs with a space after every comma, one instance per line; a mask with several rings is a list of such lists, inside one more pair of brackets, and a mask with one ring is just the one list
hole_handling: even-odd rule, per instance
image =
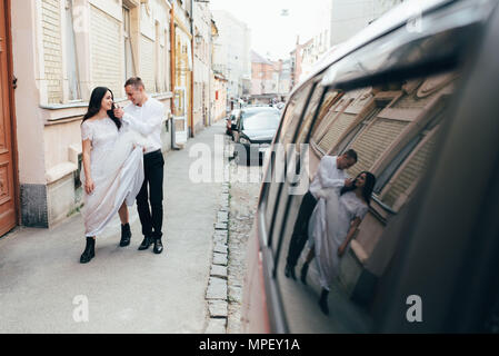
[[307, 240], [310, 250], [301, 268], [306, 283], [309, 263], [317, 257], [322, 287], [319, 306], [329, 314], [328, 294], [338, 273], [339, 258], [349, 248], [357, 227], [368, 212], [376, 184], [372, 174], [362, 171], [353, 180], [346, 169], [357, 162], [355, 150], [341, 156], [323, 156], [309, 191], [303, 196], [289, 245], [286, 276], [296, 279], [295, 267]]

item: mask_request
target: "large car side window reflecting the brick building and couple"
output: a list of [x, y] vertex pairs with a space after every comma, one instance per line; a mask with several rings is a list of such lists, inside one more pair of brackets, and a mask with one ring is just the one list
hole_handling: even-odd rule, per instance
[[[307, 110], [316, 112], [316, 120], [297, 135], [309, 142], [309, 179], [321, 179], [319, 167], [332, 165], [336, 156], [353, 149], [357, 164], [342, 172], [356, 177], [369, 171], [377, 184], [369, 207], [349, 192], [341, 194], [341, 187], [323, 187], [317, 195], [308, 190], [308, 196], [290, 196], [285, 189], [280, 196], [277, 209], [285, 212], [276, 219], [283, 221], [282, 228], [276, 228], [282, 244], [275, 261], [276, 283], [291, 333], [373, 329], [369, 310], [375, 288], [389, 269], [397, 246], [383, 240], [383, 231], [410, 201], [425, 175], [458, 83], [458, 72], [445, 72], [345, 92], [326, 88], [318, 107], [309, 105]], [[353, 238], [340, 257], [338, 250], [357, 217], [360, 225], [352, 229]], [[297, 280], [287, 265], [292, 265]], [[306, 284], [300, 281], [303, 270]], [[325, 290], [329, 316], [319, 305]]]

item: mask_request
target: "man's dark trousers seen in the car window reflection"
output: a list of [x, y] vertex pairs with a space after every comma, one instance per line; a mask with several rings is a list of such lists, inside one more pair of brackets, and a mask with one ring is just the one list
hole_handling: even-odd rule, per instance
[[317, 199], [312, 194], [307, 191], [301, 200], [300, 209], [298, 210], [298, 217], [295, 222], [295, 228], [291, 236], [291, 241], [289, 243], [287, 264], [289, 267], [295, 267], [300, 258], [301, 251], [303, 250], [305, 244], [308, 240], [308, 226], [310, 216], [316, 208]]

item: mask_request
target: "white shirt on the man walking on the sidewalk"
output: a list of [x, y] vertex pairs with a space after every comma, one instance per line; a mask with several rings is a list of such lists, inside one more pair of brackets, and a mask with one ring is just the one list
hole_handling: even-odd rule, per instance
[[129, 103], [123, 108], [123, 122], [146, 137], [144, 154], [161, 149], [161, 125], [164, 118], [164, 106], [149, 97], [141, 107]]

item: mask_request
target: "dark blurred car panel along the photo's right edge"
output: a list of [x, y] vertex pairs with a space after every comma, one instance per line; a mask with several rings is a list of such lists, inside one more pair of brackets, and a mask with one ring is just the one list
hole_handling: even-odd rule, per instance
[[[379, 332], [499, 330], [498, 41], [496, 9], [408, 211], [407, 244], [376, 305]], [[410, 295], [420, 298], [419, 323], [406, 317]]]

